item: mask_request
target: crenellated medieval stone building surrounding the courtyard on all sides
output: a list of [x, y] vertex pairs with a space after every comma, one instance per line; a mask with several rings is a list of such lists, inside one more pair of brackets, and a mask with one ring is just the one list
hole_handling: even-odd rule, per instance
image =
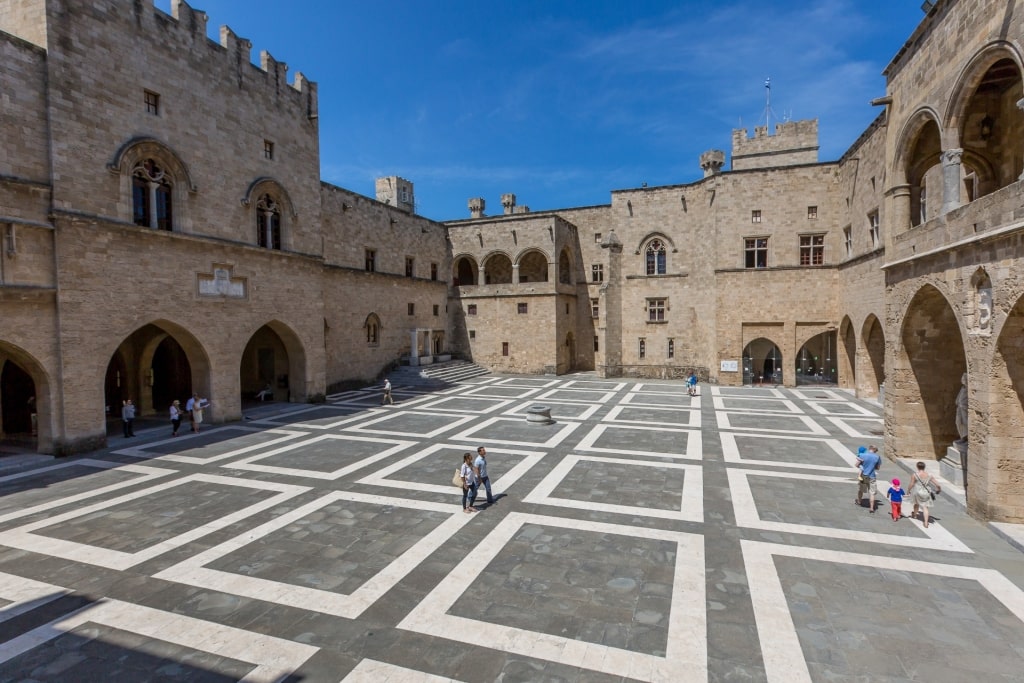
[[231, 420], [449, 353], [696, 370], [880, 398], [888, 457], [1024, 520], [1021, 10], [927, 3], [838, 160], [786, 122], [694, 182], [437, 223], [403, 178], [323, 183], [316, 85], [184, 2], [0, 0], [0, 428], [73, 453], [125, 397]]

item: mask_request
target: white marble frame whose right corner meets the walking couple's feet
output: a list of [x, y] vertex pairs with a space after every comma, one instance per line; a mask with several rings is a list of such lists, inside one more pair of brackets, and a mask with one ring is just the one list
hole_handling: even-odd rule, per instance
[[[304, 586], [293, 586], [257, 577], [245, 577], [229, 571], [210, 569], [205, 566], [338, 501], [351, 501], [381, 507], [397, 506], [414, 510], [429, 510], [432, 512], [441, 512], [450, 516], [413, 545], [412, 548], [392, 560], [386, 567], [374, 574], [349, 595]], [[395, 584], [401, 581], [406, 574], [416, 568], [431, 553], [441, 547], [444, 542], [455, 536], [471, 519], [471, 515], [463, 514], [460, 507], [453, 505], [334, 492], [281, 515], [265, 524], [261, 524], [251, 531], [225, 541], [183, 562], [168, 567], [157, 573], [155, 578], [222, 591], [233, 595], [242, 595], [256, 600], [301, 607], [336, 616], [355, 618], [370, 605], [380, 599], [382, 595], [391, 590]]]

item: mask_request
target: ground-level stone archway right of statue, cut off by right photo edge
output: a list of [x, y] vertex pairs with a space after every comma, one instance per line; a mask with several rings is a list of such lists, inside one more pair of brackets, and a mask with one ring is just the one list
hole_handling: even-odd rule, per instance
[[[988, 395], [987, 434], [969, 425], [968, 486], [980, 496], [969, 498], [972, 509], [1000, 521], [1024, 521], [1024, 295], [1010, 310], [995, 344]], [[981, 408], [981, 407], [979, 407]], [[977, 410], [977, 409], [976, 409]], [[982, 408], [982, 412], [984, 409]], [[971, 413], [973, 416], [974, 413]], [[980, 455], [980, 454], [979, 454]]]

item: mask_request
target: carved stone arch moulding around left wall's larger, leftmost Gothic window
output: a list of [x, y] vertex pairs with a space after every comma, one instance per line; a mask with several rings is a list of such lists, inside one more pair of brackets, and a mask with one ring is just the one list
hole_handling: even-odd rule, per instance
[[106, 165], [108, 170], [117, 175], [120, 181], [118, 218], [127, 223], [134, 222], [132, 171], [150, 159], [160, 164], [170, 181], [173, 207], [171, 230], [190, 232], [188, 197], [198, 191], [191, 172], [174, 150], [153, 137], [131, 138], [114, 153], [114, 157]]

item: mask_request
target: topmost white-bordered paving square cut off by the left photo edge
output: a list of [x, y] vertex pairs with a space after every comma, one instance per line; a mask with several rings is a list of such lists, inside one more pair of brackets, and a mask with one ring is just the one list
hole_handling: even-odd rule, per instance
[[127, 465], [89, 458], [0, 477], [0, 522], [27, 517], [125, 486], [177, 474], [147, 465]]

